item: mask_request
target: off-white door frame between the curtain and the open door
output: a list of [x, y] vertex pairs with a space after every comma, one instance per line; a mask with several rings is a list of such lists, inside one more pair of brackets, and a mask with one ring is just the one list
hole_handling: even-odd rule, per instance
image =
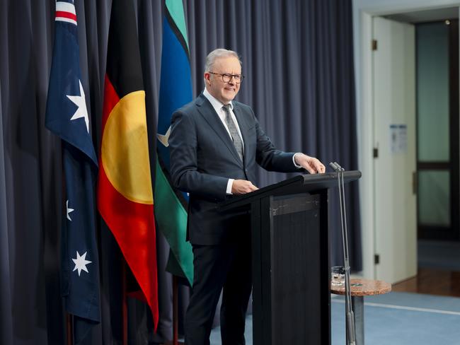
[[362, 171], [362, 178], [360, 180], [360, 211], [362, 221], [363, 267], [360, 275], [368, 279], [376, 278], [374, 264], [374, 255], [376, 254], [374, 235], [376, 210], [374, 203], [375, 179], [373, 158], [372, 18], [374, 16], [385, 16], [408, 11], [434, 10], [443, 7], [459, 7], [460, 12], [459, 1], [439, 0], [437, 5], [427, 5], [426, 1], [400, 0], [393, 4], [389, 4], [389, 2], [387, 0], [377, 0], [373, 1], [373, 4], [370, 4], [370, 1], [366, 0], [353, 1], [358, 163]]

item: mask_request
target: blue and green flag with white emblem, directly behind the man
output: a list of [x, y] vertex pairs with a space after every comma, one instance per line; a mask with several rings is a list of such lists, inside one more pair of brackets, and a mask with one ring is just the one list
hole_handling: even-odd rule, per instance
[[168, 137], [174, 110], [192, 100], [192, 77], [182, 0], [166, 0], [155, 174], [155, 213], [159, 230], [171, 247], [166, 269], [193, 281], [192, 247], [185, 241], [188, 196], [174, 189], [169, 179]]

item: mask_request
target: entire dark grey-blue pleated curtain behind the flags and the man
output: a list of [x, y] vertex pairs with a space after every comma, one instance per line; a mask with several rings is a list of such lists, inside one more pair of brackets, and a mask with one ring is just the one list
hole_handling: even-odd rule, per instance
[[[100, 113], [111, 0], [76, 0], [82, 83], [94, 142]], [[137, 0], [139, 43], [146, 88], [147, 124], [154, 157], [161, 66], [162, 1]], [[275, 144], [324, 163], [357, 168], [351, 0], [184, 1], [194, 94], [204, 88], [207, 52], [226, 47], [241, 54], [238, 100], [248, 103]], [[53, 0], [0, 1], [0, 342], [64, 344], [59, 297], [59, 226], [62, 163], [59, 139], [44, 126], [54, 39]], [[96, 148], [96, 152], [97, 152]], [[287, 175], [260, 170], [259, 186]], [[347, 189], [352, 268], [360, 270], [356, 185]], [[337, 199], [330, 198], [333, 263], [340, 263]], [[158, 236], [161, 320], [151, 332], [146, 307], [130, 300], [130, 344], [171, 337], [168, 247]], [[98, 229], [102, 322], [87, 344], [121, 343], [120, 265], [116, 242]], [[180, 309], [187, 303], [181, 290]]]

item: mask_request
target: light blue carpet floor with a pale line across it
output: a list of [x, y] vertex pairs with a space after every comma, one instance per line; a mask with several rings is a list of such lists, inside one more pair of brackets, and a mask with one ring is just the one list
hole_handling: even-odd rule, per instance
[[[343, 297], [333, 296], [331, 313], [332, 345], [344, 345]], [[364, 337], [367, 345], [460, 345], [460, 298], [396, 292], [366, 297]], [[221, 344], [219, 327], [212, 331], [211, 344]], [[253, 344], [251, 315], [246, 344]]]

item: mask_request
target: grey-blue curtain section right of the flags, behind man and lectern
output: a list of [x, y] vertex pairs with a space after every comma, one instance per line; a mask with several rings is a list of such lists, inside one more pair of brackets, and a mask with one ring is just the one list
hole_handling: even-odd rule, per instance
[[[246, 76], [238, 100], [253, 107], [275, 145], [356, 170], [352, 1], [205, 2], [187, 2], [195, 94], [204, 88], [207, 52], [236, 50]], [[260, 170], [257, 182], [263, 187], [288, 176]], [[345, 191], [350, 264], [360, 271], [357, 185]], [[343, 264], [337, 194], [330, 193], [331, 262]]]

